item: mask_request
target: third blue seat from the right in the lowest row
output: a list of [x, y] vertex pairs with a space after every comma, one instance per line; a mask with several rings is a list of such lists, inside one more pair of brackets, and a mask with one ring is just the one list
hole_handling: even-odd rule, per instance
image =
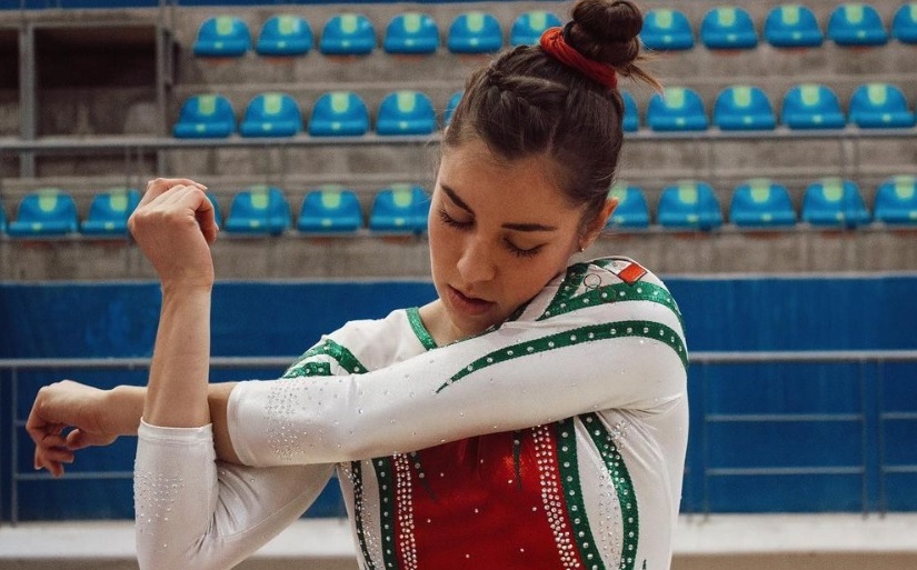
[[789, 190], [759, 178], [736, 187], [729, 203], [729, 220], [740, 228], [779, 228], [796, 224]]

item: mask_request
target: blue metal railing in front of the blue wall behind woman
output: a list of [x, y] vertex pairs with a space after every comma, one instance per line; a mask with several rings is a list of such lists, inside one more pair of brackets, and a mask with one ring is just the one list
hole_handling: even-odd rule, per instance
[[[215, 357], [211, 359], [211, 370], [256, 370], [256, 369], [285, 369], [296, 357]], [[696, 394], [691, 400], [691, 438], [694, 444], [689, 446], [688, 464], [691, 472], [686, 472], [685, 494], [692, 493], [690, 480], [699, 473], [700, 482], [694, 499], [689, 502], [699, 504], [694, 510], [699, 512], [710, 512], [710, 490], [714, 481], [721, 477], [768, 477], [768, 476], [858, 476], [861, 478], [861, 506], [863, 512], [886, 511], [887, 489], [886, 478], [889, 474], [915, 474], [917, 476], [917, 463], [915, 464], [888, 464], [885, 460], [886, 423], [891, 421], [915, 421], [917, 422], [917, 402], [913, 403], [913, 410], [886, 410], [884, 409], [880, 392], [883, 387], [884, 364], [891, 362], [917, 363], [917, 350], [867, 350], [867, 351], [781, 351], [781, 352], [695, 352], [690, 357], [691, 383], [700, 382], [701, 394], [707, 392], [708, 372], [712, 367], [724, 364], [794, 364], [794, 363], [816, 363], [816, 364], [848, 364], [856, 367], [857, 381], [860, 389], [859, 411], [843, 413], [711, 413], [708, 412], [707, 402], [697, 401]], [[0, 382], [9, 379], [10, 402], [8, 413], [10, 414], [10, 466], [9, 466], [9, 496], [10, 516], [9, 520], [16, 523], [19, 518], [19, 486], [26, 481], [50, 479], [48, 473], [20, 472], [18, 461], [22, 450], [20, 449], [20, 430], [24, 429], [26, 418], [18, 417], [17, 408], [20, 392], [20, 373], [24, 371], [67, 371], [68, 374], [79, 377], [80, 372], [122, 370], [138, 371], [146, 370], [150, 366], [149, 358], [112, 358], [112, 359], [0, 359]], [[876, 382], [867, 382], [867, 367], [874, 367]], [[917, 378], [915, 378], [917, 382]], [[860, 457], [861, 464], [855, 466], [807, 466], [805, 458], [800, 458], [799, 466], [791, 467], [710, 467], [707, 461], [709, 457], [709, 446], [711, 438], [709, 429], [715, 424], [737, 423], [737, 422], [847, 422], [859, 424], [861, 441]], [[697, 432], [699, 428], [699, 432]], [[698, 444], [697, 440], [700, 440]], [[694, 448], [694, 449], [691, 449]], [[869, 486], [867, 480], [868, 471], [867, 457], [876, 457], [878, 460], [878, 497], [870, 500]], [[3, 466], [0, 466], [3, 469]], [[130, 471], [83, 471], [63, 476], [68, 480], [112, 480], [131, 479]], [[2, 504], [3, 490], [0, 489], [0, 504]], [[697, 497], [699, 494], [699, 497]], [[876, 493], [873, 493], [876, 494]], [[870, 507], [875, 504], [876, 507]]]

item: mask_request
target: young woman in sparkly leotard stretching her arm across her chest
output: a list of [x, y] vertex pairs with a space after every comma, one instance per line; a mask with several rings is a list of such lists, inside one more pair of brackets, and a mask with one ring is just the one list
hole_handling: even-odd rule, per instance
[[631, 2], [580, 0], [475, 73], [432, 193], [438, 299], [346, 324], [279, 380], [208, 386], [212, 209], [190, 180], [151, 182], [131, 218], [162, 283], [149, 386], [42, 389], [36, 466], [138, 432], [143, 569], [230, 568], [335, 470], [363, 569], [668, 568], [680, 314], [634, 261], [567, 267], [615, 207], [617, 77], [655, 84], [641, 23]]

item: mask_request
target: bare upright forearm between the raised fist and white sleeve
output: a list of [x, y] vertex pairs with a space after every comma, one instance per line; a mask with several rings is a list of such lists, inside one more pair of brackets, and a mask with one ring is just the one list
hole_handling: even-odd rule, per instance
[[210, 289], [163, 286], [143, 419], [152, 426], [210, 423]]

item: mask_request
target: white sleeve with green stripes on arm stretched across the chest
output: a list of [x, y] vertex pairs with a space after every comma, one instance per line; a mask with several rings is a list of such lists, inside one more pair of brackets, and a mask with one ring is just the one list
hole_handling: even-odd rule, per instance
[[[383, 369], [240, 382], [228, 413], [236, 452], [252, 466], [338, 462], [604, 409], [665, 413], [686, 398], [674, 301], [658, 281], [591, 276], [569, 294], [546, 291], [494, 332]], [[352, 360], [347, 342], [331, 336], [316, 350]]]

